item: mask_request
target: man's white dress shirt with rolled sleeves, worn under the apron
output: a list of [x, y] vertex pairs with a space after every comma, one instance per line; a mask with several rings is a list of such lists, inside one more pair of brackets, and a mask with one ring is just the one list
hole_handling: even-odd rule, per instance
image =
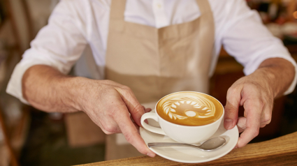
[[[45, 64], [67, 74], [85, 46], [92, 48], [96, 65], [104, 68], [111, 0], [62, 0], [50, 16], [48, 25], [39, 31], [17, 64], [6, 89], [22, 97], [22, 75], [31, 66]], [[244, 66], [245, 75], [258, 68], [268, 58], [280, 57], [294, 64], [282, 41], [275, 38], [261, 23], [258, 13], [250, 10], [244, 0], [209, 0], [215, 21], [215, 44], [210, 76], [219, 51], [225, 50]], [[195, 0], [127, 0], [126, 22], [150, 27], [166, 27], [190, 22], [200, 17]], [[101, 79], [104, 71], [101, 70]], [[296, 86], [296, 77], [285, 94]]]

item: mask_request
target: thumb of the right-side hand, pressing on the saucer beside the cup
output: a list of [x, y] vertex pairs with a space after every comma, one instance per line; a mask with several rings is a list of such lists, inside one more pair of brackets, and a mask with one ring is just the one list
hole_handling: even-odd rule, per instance
[[224, 128], [230, 130], [236, 126], [238, 107], [241, 100], [241, 89], [229, 88], [225, 106]]

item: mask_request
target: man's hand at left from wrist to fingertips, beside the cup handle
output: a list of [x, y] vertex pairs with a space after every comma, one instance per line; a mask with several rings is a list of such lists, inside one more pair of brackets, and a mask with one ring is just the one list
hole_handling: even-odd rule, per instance
[[82, 86], [82, 98], [79, 97], [78, 101], [80, 109], [104, 133], [108, 135], [123, 133], [126, 140], [140, 153], [154, 157], [155, 154], [147, 148], [131, 121], [133, 119], [138, 126], [141, 126], [140, 119], [145, 113], [145, 108], [138, 103], [131, 89], [110, 80], [85, 79], [85, 81]]

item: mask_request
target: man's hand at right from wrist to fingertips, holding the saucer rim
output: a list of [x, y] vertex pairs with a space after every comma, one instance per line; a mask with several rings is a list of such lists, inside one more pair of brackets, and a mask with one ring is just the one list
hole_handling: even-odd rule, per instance
[[[236, 147], [245, 146], [271, 121], [275, 94], [269, 82], [261, 75], [248, 75], [236, 81], [227, 92], [224, 127], [233, 128], [236, 123], [241, 133]], [[244, 117], [238, 118], [238, 107], [245, 108]]]

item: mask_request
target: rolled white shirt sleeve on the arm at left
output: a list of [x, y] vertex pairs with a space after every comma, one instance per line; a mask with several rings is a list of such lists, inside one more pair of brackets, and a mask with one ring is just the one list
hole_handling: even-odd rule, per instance
[[60, 1], [52, 12], [48, 25], [38, 32], [31, 42], [31, 48], [24, 52], [10, 77], [6, 92], [22, 103], [29, 104], [22, 96], [22, 76], [31, 66], [42, 64], [52, 66], [67, 74], [80, 58], [87, 40], [78, 12], [71, 1]]

